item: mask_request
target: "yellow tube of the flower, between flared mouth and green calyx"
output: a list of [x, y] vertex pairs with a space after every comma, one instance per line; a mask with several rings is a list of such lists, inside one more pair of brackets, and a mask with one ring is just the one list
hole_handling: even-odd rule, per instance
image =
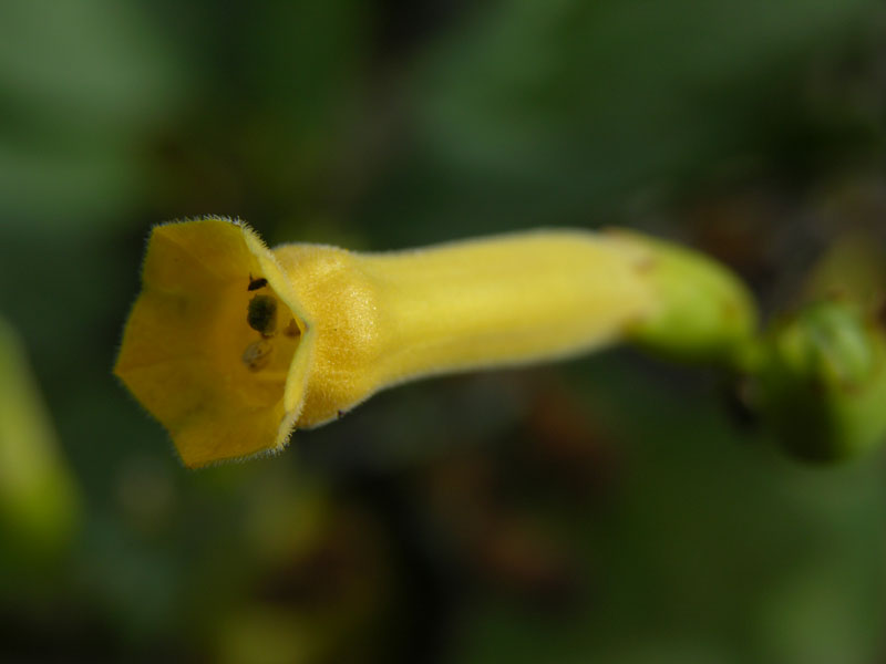
[[599, 347], [655, 308], [639, 274], [646, 255], [586, 231], [378, 255], [315, 245], [274, 252], [311, 321], [299, 427], [421, 376]]

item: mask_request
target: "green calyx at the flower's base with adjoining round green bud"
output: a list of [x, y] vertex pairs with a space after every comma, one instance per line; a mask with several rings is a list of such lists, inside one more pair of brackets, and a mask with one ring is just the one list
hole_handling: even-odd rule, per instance
[[626, 235], [649, 251], [642, 269], [659, 302], [628, 330], [632, 343], [736, 376], [746, 406], [795, 457], [834, 461], [886, 440], [886, 329], [870, 284], [820, 297], [760, 333], [753, 298], [725, 267]]

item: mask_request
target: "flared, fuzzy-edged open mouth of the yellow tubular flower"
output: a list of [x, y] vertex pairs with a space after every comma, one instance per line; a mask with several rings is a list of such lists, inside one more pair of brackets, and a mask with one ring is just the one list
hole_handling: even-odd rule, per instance
[[259, 274], [281, 315], [298, 321], [274, 255], [245, 225], [204, 219], [151, 235], [114, 372], [166, 426], [187, 466], [279, 449], [298, 415], [300, 335], [275, 338], [260, 371], [244, 361], [261, 340], [246, 324], [250, 276]]

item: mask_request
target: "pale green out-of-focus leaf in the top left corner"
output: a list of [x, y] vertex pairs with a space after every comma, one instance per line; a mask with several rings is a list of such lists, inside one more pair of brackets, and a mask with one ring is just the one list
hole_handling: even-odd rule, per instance
[[0, 215], [19, 231], [114, 220], [141, 191], [138, 153], [184, 71], [132, 1], [0, 6]]

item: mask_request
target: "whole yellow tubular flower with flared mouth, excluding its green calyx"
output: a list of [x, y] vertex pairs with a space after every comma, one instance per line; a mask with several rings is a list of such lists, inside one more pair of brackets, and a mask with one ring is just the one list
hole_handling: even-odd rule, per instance
[[189, 467], [278, 452], [295, 428], [404, 381], [642, 339], [666, 317], [656, 251], [579, 230], [270, 250], [239, 222], [167, 224], [151, 236], [114, 372]]

